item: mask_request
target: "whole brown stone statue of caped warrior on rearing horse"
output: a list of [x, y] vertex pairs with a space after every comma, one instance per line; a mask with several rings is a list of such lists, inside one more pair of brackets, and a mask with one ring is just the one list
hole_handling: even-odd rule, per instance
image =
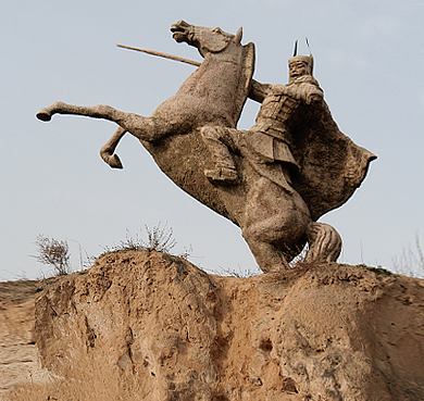
[[[252, 79], [254, 45], [241, 45], [241, 28], [232, 35], [179, 21], [171, 30], [204, 60], [150, 117], [63, 102], [37, 117], [115, 122], [102, 159], [122, 168], [114, 150], [126, 131], [136, 136], [176, 185], [241, 228], [265, 273], [288, 268], [307, 242], [308, 260], [336, 261], [341, 239], [316, 221], [352, 196], [375, 155], [338, 129], [312, 76], [313, 58], [289, 60], [288, 85], [260, 84]], [[248, 97], [262, 105], [255, 125], [238, 130]]]

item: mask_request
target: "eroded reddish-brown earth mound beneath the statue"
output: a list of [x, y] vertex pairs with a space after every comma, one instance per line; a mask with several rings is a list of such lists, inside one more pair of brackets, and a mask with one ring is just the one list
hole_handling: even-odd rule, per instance
[[15, 400], [424, 400], [424, 280], [348, 265], [208, 275], [117, 252], [36, 301], [42, 366]]

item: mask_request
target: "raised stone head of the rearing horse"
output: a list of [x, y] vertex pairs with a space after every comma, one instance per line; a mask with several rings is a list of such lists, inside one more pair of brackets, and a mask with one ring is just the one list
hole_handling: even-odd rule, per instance
[[233, 35], [223, 32], [220, 27], [207, 28], [204, 26], [190, 25], [183, 20], [172, 24], [171, 32], [177, 42], [185, 41], [187, 45], [196, 47], [203, 58], [208, 53], [223, 51], [230, 42], [240, 43], [242, 36], [241, 27], [236, 35]]

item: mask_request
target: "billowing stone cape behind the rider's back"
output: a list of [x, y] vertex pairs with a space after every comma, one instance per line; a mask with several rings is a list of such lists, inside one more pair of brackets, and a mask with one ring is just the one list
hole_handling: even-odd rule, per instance
[[309, 110], [292, 139], [294, 155], [300, 165], [292, 178], [294, 188], [313, 221], [344, 204], [377, 158], [340, 131], [324, 101]]

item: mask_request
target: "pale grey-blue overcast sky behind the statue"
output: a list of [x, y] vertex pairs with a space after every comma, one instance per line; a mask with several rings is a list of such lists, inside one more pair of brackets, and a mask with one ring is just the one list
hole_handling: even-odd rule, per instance
[[[117, 150], [124, 170], [113, 171], [98, 155], [113, 123], [35, 117], [57, 100], [150, 115], [194, 67], [115, 45], [200, 61], [172, 39], [182, 18], [242, 26], [262, 83], [287, 83], [294, 42], [308, 53], [307, 36], [335, 121], [378, 156], [354, 196], [321, 218], [344, 239], [339, 261], [394, 270], [403, 249], [416, 253], [416, 236], [424, 245], [424, 1], [13, 0], [0, 18], [0, 280], [48, 274], [29, 256], [38, 234], [66, 239], [78, 270], [77, 242], [97, 255], [159, 222], [173, 227], [175, 252], [191, 245], [191, 261], [207, 271], [255, 270], [239, 228], [177, 188], [134, 137]], [[248, 101], [239, 127], [257, 112]]]

